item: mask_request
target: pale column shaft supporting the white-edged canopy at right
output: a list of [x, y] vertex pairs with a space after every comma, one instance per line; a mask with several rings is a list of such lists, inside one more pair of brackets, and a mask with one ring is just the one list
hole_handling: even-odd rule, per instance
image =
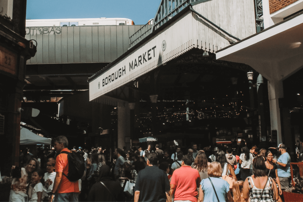
[[277, 130], [277, 142], [282, 143], [282, 129], [279, 108], [279, 98], [283, 98], [283, 82], [282, 80], [268, 81], [268, 98], [270, 109], [271, 130]]

